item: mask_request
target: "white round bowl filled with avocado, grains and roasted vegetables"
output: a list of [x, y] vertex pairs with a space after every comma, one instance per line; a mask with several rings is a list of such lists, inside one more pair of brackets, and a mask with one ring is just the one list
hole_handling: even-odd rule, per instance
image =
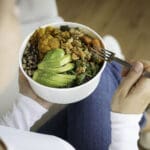
[[105, 68], [92, 48], [100, 50], [104, 43], [91, 28], [72, 22], [47, 24], [24, 40], [19, 66], [39, 97], [73, 103], [96, 89]]

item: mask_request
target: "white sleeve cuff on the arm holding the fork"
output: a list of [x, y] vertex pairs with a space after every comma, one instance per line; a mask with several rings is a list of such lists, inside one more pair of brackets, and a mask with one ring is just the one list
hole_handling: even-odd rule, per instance
[[142, 114], [119, 114], [111, 112], [111, 145], [109, 150], [138, 150], [139, 121]]

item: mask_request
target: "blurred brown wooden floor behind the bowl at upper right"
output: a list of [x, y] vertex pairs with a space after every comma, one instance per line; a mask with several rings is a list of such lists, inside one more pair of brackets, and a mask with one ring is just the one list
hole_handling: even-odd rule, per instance
[[57, 0], [66, 21], [115, 36], [127, 59], [150, 60], [150, 0]]

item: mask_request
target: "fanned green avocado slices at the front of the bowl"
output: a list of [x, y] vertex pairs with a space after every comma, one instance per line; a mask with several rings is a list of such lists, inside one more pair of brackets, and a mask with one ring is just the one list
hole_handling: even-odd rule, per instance
[[71, 61], [71, 55], [65, 55], [63, 49], [51, 50], [38, 64], [33, 80], [48, 87], [70, 87], [76, 79], [76, 75], [66, 73], [75, 67]]

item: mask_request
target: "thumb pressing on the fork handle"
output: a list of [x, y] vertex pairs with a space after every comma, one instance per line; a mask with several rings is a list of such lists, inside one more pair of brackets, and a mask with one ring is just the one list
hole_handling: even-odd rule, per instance
[[119, 88], [121, 91], [123, 91], [123, 95], [126, 96], [131, 88], [135, 85], [135, 83], [138, 81], [140, 76], [143, 73], [143, 64], [141, 62], [135, 62], [132, 65], [132, 68], [130, 69], [127, 76], [122, 80]]

